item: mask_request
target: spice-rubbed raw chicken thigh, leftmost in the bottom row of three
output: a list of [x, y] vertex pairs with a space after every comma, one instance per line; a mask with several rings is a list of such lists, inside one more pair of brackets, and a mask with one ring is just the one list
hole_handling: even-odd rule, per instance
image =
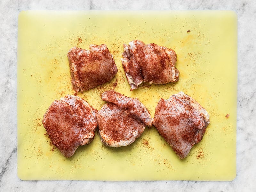
[[70, 157], [78, 146], [92, 142], [98, 126], [96, 112], [82, 98], [66, 95], [52, 102], [42, 123], [52, 143]]

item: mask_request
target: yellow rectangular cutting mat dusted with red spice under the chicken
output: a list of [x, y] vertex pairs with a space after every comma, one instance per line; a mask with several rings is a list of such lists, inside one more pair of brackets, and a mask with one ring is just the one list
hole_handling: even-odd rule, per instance
[[[22, 11], [18, 24], [18, 176], [22, 180], [233, 180], [236, 176], [237, 16], [231, 11]], [[188, 32], [189, 30], [189, 32]], [[130, 91], [123, 44], [140, 39], [175, 50], [180, 81]], [[126, 147], [91, 144], [64, 157], [41, 123], [71, 89], [68, 50], [107, 44], [118, 67], [110, 82], [79, 93], [92, 107], [115, 89], [154, 116], [157, 101], [183, 91], [210, 114], [203, 140], [180, 160], [155, 127]], [[229, 118], [226, 118], [229, 114]]]

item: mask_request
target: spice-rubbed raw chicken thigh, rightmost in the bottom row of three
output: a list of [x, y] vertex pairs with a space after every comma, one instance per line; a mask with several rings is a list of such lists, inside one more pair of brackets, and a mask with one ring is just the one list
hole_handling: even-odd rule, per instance
[[201, 141], [210, 123], [207, 111], [189, 95], [179, 92], [156, 105], [153, 125], [180, 159]]

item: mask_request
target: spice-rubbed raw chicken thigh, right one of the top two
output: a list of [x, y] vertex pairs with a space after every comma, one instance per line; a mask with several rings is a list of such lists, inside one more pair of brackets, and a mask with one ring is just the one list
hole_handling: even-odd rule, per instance
[[176, 53], [157, 44], [144, 44], [133, 40], [124, 44], [121, 59], [131, 91], [144, 81], [150, 84], [165, 84], [179, 81], [179, 70], [175, 68]]

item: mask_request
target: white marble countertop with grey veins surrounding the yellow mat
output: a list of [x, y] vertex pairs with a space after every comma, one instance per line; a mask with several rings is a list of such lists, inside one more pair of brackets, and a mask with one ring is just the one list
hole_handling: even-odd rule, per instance
[[[17, 19], [21, 10], [233, 10], [238, 16], [237, 174], [233, 181], [22, 181], [17, 177]], [[253, 0], [0, 1], [0, 191], [255, 191], [256, 5]]]

